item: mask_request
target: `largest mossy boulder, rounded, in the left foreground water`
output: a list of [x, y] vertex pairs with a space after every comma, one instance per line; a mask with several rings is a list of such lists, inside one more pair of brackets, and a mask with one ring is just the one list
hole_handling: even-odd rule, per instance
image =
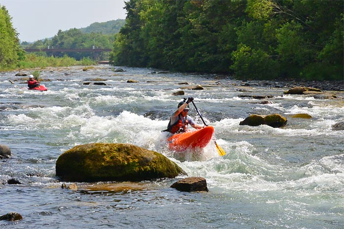
[[62, 153], [56, 176], [63, 181], [141, 181], [186, 174], [161, 153], [131, 144], [91, 143]]

